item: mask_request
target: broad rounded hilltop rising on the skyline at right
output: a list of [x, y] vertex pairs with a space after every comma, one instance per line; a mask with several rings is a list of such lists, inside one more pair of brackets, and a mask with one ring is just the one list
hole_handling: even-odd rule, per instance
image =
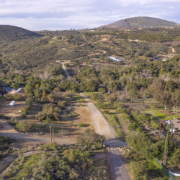
[[109, 28], [138, 28], [138, 27], [160, 27], [160, 26], [177, 26], [176, 23], [158, 19], [158, 18], [152, 18], [152, 17], [133, 17], [133, 18], [127, 18], [122, 19], [120, 21], [116, 21], [114, 23], [108, 24], [103, 27], [109, 27]]

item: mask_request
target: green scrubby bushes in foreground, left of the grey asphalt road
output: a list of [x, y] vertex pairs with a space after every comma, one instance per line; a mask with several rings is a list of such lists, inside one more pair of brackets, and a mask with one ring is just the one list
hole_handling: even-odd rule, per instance
[[[86, 137], [86, 143], [79, 137], [80, 146], [59, 146], [51, 143], [38, 147], [33, 155], [25, 156], [23, 152], [17, 152], [21, 158], [17, 158], [10, 165], [3, 177], [11, 180], [109, 179], [106, 161], [94, 158], [98, 151], [103, 153], [103, 137], [90, 130], [86, 132]], [[91, 141], [91, 138], [94, 141]]]

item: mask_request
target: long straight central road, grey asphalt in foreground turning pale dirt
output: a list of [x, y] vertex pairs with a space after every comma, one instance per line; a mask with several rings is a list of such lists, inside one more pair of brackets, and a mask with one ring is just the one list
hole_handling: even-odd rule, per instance
[[128, 147], [127, 143], [120, 141], [116, 137], [114, 129], [109, 125], [93, 103], [87, 103], [87, 106], [92, 113], [96, 132], [106, 137], [104, 144], [109, 147], [109, 155], [114, 180], [129, 180], [124, 161], [120, 151], [118, 150], [118, 147]]

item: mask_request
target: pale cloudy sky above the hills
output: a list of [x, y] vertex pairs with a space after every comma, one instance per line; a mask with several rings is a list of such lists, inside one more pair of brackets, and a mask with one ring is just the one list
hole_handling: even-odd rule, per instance
[[93, 28], [150, 16], [180, 23], [180, 0], [0, 0], [0, 24], [29, 30]]

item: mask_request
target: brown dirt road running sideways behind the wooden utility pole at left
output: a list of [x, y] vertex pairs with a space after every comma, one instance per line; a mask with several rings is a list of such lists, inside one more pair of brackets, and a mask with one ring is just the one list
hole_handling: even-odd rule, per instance
[[[42, 137], [42, 136], [29, 136], [26, 134], [21, 134], [16, 131], [12, 126], [6, 123], [6, 121], [0, 120], [0, 125], [3, 129], [0, 129], [0, 133], [4, 136], [8, 136], [12, 139], [16, 139], [18, 141], [30, 141], [35, 143], [49, 143], [51, 142], [50, 137]], [[76, 139], [73, 138], [59, 138], [55, 137], [55, 141], [58, 144], [75, 144]]]

